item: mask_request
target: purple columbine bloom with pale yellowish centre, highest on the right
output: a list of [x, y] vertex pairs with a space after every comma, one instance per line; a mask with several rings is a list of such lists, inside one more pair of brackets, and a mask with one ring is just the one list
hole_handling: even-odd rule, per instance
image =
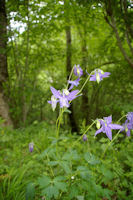
[[96, 69], [94, 74], [90, 76], [90, 81], [97, 81], [99, 83], [103, 78], [109, 77], [110, 72], [104, 72], [101, 69]]

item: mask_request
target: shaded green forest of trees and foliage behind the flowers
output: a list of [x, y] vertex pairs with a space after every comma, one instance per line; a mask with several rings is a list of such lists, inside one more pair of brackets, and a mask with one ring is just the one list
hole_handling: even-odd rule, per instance
[[[1, 0], [0, 116], [15, 128], [55, 123], [50, 86], [65, 87], [80, 64], [90, 73], [111, 72], [89, 82], [64, 123], [73, 131], [92, 119], [133, 110], [133, 2], [128, 0]], [[80, 85], [80, 86], [81, 86]]]

